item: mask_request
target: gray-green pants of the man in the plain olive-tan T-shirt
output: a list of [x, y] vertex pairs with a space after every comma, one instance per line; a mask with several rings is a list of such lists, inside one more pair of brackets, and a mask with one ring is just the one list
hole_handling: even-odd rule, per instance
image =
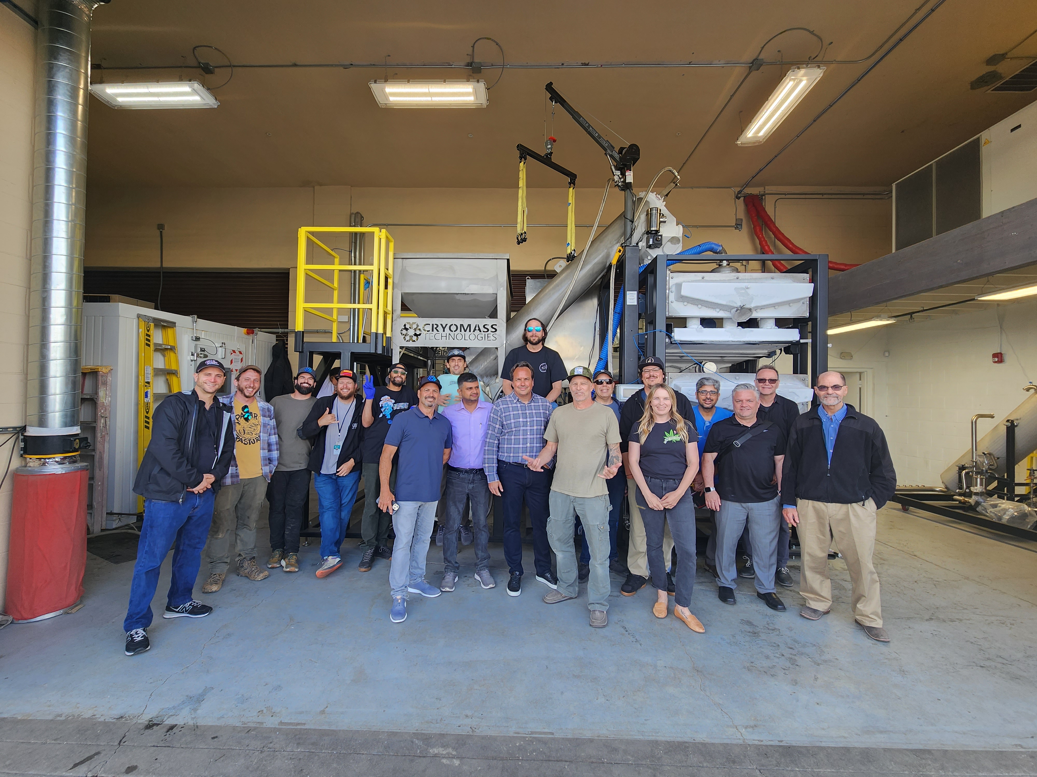
[[555, 551], [558, 568], [558, 592], [574, 597], [580, 593], [577, 580], [577, 515], [583, 523], [584, 537], [590, 548], [590, 577], [587, 579], [587, 608], [608, 610], [609, 594], [609, 495], [569, 496], [552, 490], [551, 516], [548, 518], [548, 541]]

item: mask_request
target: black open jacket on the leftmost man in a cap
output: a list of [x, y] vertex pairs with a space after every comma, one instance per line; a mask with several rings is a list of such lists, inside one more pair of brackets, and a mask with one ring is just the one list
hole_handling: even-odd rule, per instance
[[230, 469], [234, 455], [234, 409], [219, 402], [222, 423], [218, 455], [212, 462], [200, 460], [198, 440], [198, 392], [170, 394], [155, 408], [151, 419], [151, 441], [137, 469], [133, 484], [135, 493], [145, 499], [183, 501], [189, 488], [201, 483], [203, 474], [216, 478], [213, 492], [220, 490], [220, 481]]

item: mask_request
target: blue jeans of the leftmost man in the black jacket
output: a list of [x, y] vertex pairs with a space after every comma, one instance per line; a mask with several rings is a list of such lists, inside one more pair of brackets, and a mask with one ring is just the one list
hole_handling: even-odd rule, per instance
[[159, 570], [174, 541], [173, 579], [166, 601], [172, 607], [191, 601], [201, 566], [201, 549], [205, 547], [213, 522], [215, 500], [212, 488], [200, 494], [189, 491], [183, 501], [144, 500], [144, 525], [137, 542], [137, 563], [130, 583], [130, 606], [122, 622], [123, 631], [146, 629], [151, 625], [151, 600], [159, 587]]

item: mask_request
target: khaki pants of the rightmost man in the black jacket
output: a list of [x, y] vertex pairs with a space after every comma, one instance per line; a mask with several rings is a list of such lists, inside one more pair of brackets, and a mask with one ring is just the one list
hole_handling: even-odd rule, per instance
[[853, 616], [864, 626], [881, 626], [878, 575], [872, 566], [875, 550], [875, 502], [833, 505], [796, 499], [800, 513], [802, 575], [800, 593], [807, 606], [824, 612], [832, 608], [832, 580], [829, 578], [829, 547], [832, 538], [846, 562], [853, 585]]

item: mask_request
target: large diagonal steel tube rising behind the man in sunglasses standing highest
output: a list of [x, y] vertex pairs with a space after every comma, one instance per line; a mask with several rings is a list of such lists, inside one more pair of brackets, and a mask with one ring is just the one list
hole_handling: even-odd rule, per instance
[[[637, 201], [640, 203], [641, 197], [638, 197]], [[548, 323], [562, 305], [563, 299], [565, 299], [565, 307], [568, 308], [580, 299], [587, 289], [601, 279], [608, 270], [609, 264], [612, 262], [612, 257], [616, 254], [616, 249], [623, 242], [625, 225], [625, 219], [620, 213], [612, 224], [606, 227], [591, 241], [590, 248], [587, 250], [587, 258], [584, 260], [583, 267], [580, 270], [580, 277], [577, 278], [576, 284], [572, 286], [572, 290], [569, 292], [567, 298], [565, 298], [565, 292], [572, 282], [572, 275], [580, 266], [580, 256], [577, 256], [576, 259], [566, 264], [561, 272], [552, 278], [548, 285], [537, 292], [535, 297], [526, 303], [522, 310], [511, 317], [507, 328], [508, 350], [522, 345], [523, 327], [526, 321], [531, 318], [539, 318], [544, 323]], [[640, 240], [644, 234], [644, 230], [645, 217], [640, 215], [634, 228], [634, 239], [632, 242], [636, 243]], [[564, 313], [565, 310], [562, 309], [560, 312]], [[469, 369], [483, 378], [483, 380], [495, 380], [500, 370], [500, 365], [497, 365], [497, 351], [493, 348], [482, 349], [469, 363]]]

